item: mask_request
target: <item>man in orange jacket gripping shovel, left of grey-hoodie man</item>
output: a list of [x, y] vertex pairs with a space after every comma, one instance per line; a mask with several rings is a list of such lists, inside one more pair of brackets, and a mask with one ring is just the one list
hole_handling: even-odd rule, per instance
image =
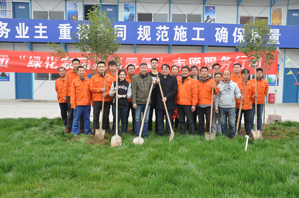
[[209, 69], [207, 67], [200, 68], [200, 77], [197, 80], [197, 87], [198, 101], [196, 110], [198, 115], [198, 135], [202, 135], [204, 115], [206, 117], [207, 132], [210, 131], [210, 121], [212, 121], [210, 120], [212, 99], [214, 101], [214, 97], [212, 98], [212, 90], [214, 89], [214, 95], [217, 95], [219, 92], [216, 83], [213, 85], [213, 79], [209, 76]]

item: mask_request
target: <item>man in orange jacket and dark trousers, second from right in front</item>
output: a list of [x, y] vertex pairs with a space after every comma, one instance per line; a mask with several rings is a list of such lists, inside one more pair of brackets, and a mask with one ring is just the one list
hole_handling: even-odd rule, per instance
[[[244, 69], [241, 71], [241, 76], [243, 79], [237, 83], [237, 85], [242, 93], [244, 81], [246, 82], [245, 91], [244, 91], [244, 100], [243, 100], [242, 108], [241, 108], [239, 127], [236, 130], [238, 130], [238, 132], [240, 133], [242, 115], [244, 114], [245, 131], [246, 131], [246, 134], [249, 135], [251, 133], [250, 117], [251, 117], [252, 101], [255, 98], [258, 99], [258, 95], [255, 94], [254, 83], [248, 81], [249, 70], [247, 70], [247, 75], [245, 76], [246, 70], [247, 69]], [[237, 103], [236, 122], [238, 122], [238, 115], [239, 115], [239, 108], [240, 108], [241, 100], [237, 99], [236, 103]]]

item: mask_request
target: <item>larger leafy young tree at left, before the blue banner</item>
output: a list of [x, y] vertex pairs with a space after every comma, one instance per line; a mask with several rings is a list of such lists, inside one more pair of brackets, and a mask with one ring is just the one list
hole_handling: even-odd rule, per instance
[[[118, 29], [115, 28], [114, 21], [111, 21], [103, 9], [99, 9], [99, 5], [94, 6], [87, 13], [88, 21], [76, 21], [77, 33], [72, 32], [72, 40], [76, 49], [87, 62], [83, 66], [90, 71], [91, 74], [96, 74], [96, 64], [99, 61], [108, 63], [115, 61], [118, 67], [121, 65], [120, 57], [116, 54], [120, 47], [120, 38], [118, 37]], [[50, 48], [55, 52], [51, 55], [58, 58], [69, 57], [69, 54], [62, 48], [59, 48], [55, 43], [48, 43]], [[69, 57], [72, 59], [74, 57]]]

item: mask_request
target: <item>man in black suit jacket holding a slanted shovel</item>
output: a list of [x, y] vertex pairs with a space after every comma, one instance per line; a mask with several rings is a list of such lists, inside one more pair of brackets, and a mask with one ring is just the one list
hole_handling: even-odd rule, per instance
[[[166, 102], [166, 107], [169, 116], [172, 116], [175, 108], [174, 96], [177, 92], [177, 80], [175, 77], [169, 75], [169, 71], [170, 71], [169, 65], [167, 64], [162, 65], [163, 76], [161, 76], [160, 79], [157, 79], [157, 82], [161, 84], [161, 89], [164, 96], [164, 98], [162, 98], [161, 91], [160, 90], [157, 91], [156, 110], [157, 110], [158, 135], [160, 136], [164, 135], [164, 117], [166, 120], [166, 134], [169, 135], [170, 133], [170, 127], [166, 116], [166, 111], [165, 111], [163, 101]], [[170, 126], [173, 126], [172, 119], [170, 119], [170, 122], [171, 122]]]

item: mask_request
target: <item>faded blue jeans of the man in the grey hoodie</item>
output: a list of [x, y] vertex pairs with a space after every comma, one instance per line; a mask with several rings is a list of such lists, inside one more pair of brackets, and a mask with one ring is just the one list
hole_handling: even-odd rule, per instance
[[[236, 111], [235, 107], [223, 108], [219, 107], [219, 114], [221, 118], [221, 131], [226, 137], [233, 138], [236, 134]], [[227, 122], [229, 134], [227, 132]]]

